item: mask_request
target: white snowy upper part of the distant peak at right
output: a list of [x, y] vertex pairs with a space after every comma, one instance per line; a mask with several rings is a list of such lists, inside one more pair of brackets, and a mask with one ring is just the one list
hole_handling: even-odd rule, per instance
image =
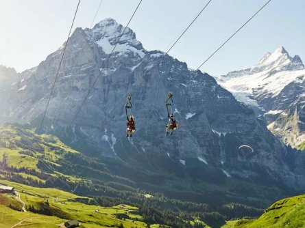
[[305, 68], [300, 57], [291, 57], [280, 47], [273, 53], [267, 53], [256, 66], [229, 72], [216, 79], [240, 102], [259, 106], [261, 100], [278, 96], [289, 83], [303, 81], [304, 75]]

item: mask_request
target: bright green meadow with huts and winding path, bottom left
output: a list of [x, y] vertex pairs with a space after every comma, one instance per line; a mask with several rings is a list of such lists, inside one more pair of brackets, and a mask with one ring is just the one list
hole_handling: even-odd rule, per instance
[[[88, 199], [89, 202], [90, 198], [80, 197], [72, 193], [66, 193], [62, 190], [53, 188], [34, 188], [24, 184], [17, 184], [8, 181], [1, 181], [1, 184], [14, 186], [14, 188], [19, 191], [21, 199], [27, 205], [27, 209], [29, 208], [29, 205], [33, 205], [34, 208], [38, 209], [41, 205], [48, 201], [49, 210], [54, 214], [58, 214], [60, 217], [64, 218], [58, 218], [56, 216], [45, 216], [43, 214], [32, 212], [18, 212], [8, 208], [8, 205], [12, 203], [12, 199], [10, 199], [10, 202], [6, 201], [6, 203], [4, 203], [4, 200], [1, 201], [0, 198], [0, 227], [11, 227], [12, 225], [19, 223], [25, 218], [32, 219], [25, 220], [23, 223], [24, 227], [42, 227], [42, 224], [44, 225], [43, 227], [58, 227], [56, 224], [62, 224], [64, 221], [69, 219], [80, 220], [82, 227], [88, 228], [110, 227], [115, 225], [116, 220], [117, 225], [122, 223], [124, 227], [147, 227], [147, 225], [141, 221], [142, 217], [136, 213], [138, 209], [130, 205], [125, 205], [129, 210], [128, 216], [130, 218], [121, 220], [116, 219], [116, 214], [124, 214], [125, 216], [127, 216], [127, 214], [125, 209], [121, 209], [119, 205], [110, 208], [104, 208], [98, 205], [79, 203], [75, 200], [82, 198]], [[68, 198], [71, 198], [72, 201], [67, 201]], [[95, 210], [99, 210], [99, 212], [95, 212]], [[136, 221], [132, 223], [132, 220]]]

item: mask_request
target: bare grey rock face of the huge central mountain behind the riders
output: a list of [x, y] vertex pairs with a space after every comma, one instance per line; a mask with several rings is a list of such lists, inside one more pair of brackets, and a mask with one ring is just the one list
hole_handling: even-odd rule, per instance
[[[75, 29], [43, 132], [56, 134], [98, 158], [115, 158], [132, 165], [147, 154], [163, 154], [184, 166], [188, 158], [195, 158], [223, 171], [226, 178], [269, 178], [305, 188], [305, 178], [293, 173], [282, 159], [284, 149], [263, 121], [208, 74], [188, 70], [186, 63], [160, 51], [146, 51], [131, 29], [125, 31], [106, 62], [123, 29], [112, 19], [93, 29]], [[59, 48], [10, 84], [11, 92], [3, 99], [5, 112], [11, 113], [10, 122], [39, 126], [62, 51]], [[99, 74], [93, 92], [70, 125]], [[164, 100], [168, 91], [174, 94], [172, 111], [180, 128], [166, 137]], [[136, 133], [126, 139], [124, 104], [130, 93]], [[250, 145], [254, 153], [242, 155], [240, 145]]]

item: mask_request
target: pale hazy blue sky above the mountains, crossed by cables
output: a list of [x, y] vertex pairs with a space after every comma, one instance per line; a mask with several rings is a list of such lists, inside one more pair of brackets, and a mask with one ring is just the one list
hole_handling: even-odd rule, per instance
[[[100, 0], [82, 0], [74, 27], [90, 27]], [[267, 0], [212, 0], [169, 53], [197, 68]], [[208, 0], [143, 0], [130, 23], [147, 50], [167, 51]], [[126, 25], [138, 0], [103, 0], [95, 23], [114, 18]], [[0, 65], [21, 72], [37, 66], [66, 40], [77, 0], [3, 0]], [[305, 1], [272, 0], [202, 68], [211, 75], [254, 66], [284, 46], [305, 61]]]

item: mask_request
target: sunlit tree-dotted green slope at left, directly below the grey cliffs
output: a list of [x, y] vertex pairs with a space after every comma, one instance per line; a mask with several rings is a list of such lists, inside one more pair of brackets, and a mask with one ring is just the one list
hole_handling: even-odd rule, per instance
[[38, 181], [45, 184], [50, 177], [61, 177], [64, 182], [77, 183], [80, 180], [88, 181], [84, 176], [90, 173], [88, 177], [97, 178], [104, 183], [118, 182], [129, 186], [134, 184], [130, 180], [112, 175], [101, 161], [82, 155], [56, 137], [38, 135], [34, 130], [23, 130], [8, 124], [0, 126], [0, 163], [4, 157], [6, 166], [21, 169], [18, 174], [23, 179], [28, 179], [28, 183]]

